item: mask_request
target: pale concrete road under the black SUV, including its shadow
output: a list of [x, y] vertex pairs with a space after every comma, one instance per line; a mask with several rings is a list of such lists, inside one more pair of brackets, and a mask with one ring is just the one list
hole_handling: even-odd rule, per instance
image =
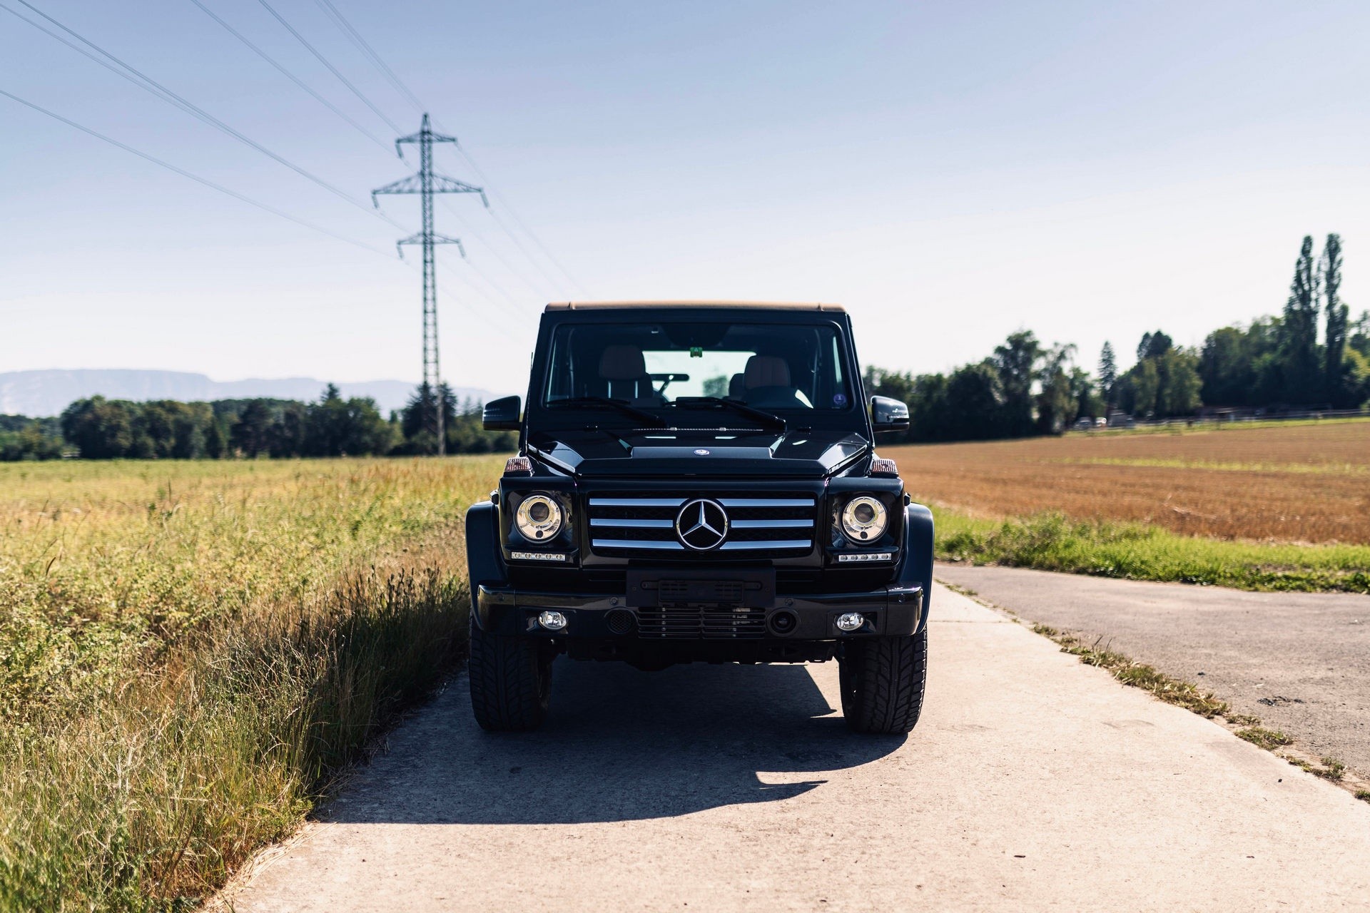
[[279, 910], [1370, 909], [1370, 805], [941, 587], [908, 738], [837, 669], [562, 664], [532, 735], [463, 680], [230, 895]]

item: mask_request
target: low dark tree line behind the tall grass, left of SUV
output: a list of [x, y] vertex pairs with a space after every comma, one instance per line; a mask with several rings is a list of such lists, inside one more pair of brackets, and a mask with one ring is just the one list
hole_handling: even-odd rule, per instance
[[[481, 427], [482, 407], [441, 396], [448, 453], [508, 452], [510, 431]], [[329, 385], [314, 402], [215, 400], [130, 402], [77, 400], [56, 419], [0, 416], [0, 460], [407, 456], [437, 452], [438, 396], [421, 385], [404, 408], [381, 415], [369, 397], [344, 400]]]

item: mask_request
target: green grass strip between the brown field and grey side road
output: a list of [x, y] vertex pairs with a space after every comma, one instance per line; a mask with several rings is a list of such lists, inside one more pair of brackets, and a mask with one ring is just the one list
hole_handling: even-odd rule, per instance
[[1138, 523], [1059, 513], [982, 520], [933, 509], [937, 557], [1129, 580], [1241, 590], [1370, 593], [1370, 546], [1284, 545], [1184, 537]]

